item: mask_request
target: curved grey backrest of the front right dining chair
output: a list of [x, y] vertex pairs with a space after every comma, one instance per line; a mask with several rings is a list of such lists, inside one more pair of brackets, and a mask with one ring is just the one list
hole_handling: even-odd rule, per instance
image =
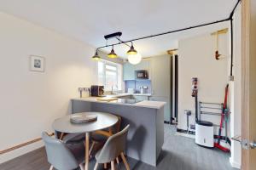
[[97, 158], [98, 163], [113, 161], [121, 152], [125, 150], [126, 138], [130, 125], [127, 125], [119, 133], [113, 134], [104, 144], [100, 155]]

